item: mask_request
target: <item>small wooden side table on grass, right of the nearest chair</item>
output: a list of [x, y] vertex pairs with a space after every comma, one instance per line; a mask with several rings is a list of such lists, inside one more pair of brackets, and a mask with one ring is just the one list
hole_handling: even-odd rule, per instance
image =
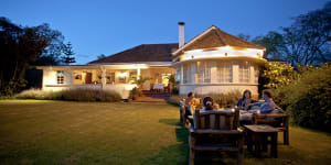
[[270, 156], [277, 157], [277, 133], [280, 130], [275, 129], [270, 125], [244, 125], [247, 131], [247, 150], [253, 151], [255, 147], [255, 155], [260, 156], [261, 151], [268, 151], [268, 136], [271, 136], [271, 152]]

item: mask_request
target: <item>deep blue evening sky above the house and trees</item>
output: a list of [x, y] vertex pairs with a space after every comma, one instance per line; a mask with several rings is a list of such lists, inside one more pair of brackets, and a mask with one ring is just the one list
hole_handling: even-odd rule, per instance
[[328, 0], [0, 0], [0, 16], [21, 25], [51, 24], [72, 42], [77, 64], [140, 44], [185, 41], [212, 24], [237, 35], [263, 35], [321, 9]]

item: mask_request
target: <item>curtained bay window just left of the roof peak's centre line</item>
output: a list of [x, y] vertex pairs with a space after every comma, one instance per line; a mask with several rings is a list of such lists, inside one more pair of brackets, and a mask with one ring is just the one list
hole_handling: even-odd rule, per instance
[[211, 63], [196, 62], [196, 70], [199, 84], [211, 82]]

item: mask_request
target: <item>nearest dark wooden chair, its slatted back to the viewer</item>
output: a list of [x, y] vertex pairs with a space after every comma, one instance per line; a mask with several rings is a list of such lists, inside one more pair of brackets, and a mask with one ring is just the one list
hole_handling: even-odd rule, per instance
[[239, 111], [195, 110], [194, 127], [189, 128], [189, 164], [194, 164], [195, 151], [237, 152], [237, 164], [242, 164], [244, 134], [238, 130], [238, 119]]

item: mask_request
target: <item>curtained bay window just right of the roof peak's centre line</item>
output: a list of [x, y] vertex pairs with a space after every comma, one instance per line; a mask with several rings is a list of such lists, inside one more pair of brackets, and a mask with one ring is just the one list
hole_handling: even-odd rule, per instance
[[232, 82], [232, 63], [217, 63], [217, 82]]

